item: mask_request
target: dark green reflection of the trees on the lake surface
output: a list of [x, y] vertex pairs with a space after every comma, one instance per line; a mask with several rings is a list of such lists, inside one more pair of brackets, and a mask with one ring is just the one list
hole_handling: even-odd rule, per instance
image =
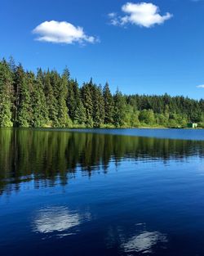
[[95, 170], [107, 173], [110, 161], [182, 161], [203, 157], [204, 141], [131, 137], [111, 134], [33, 129], [0, 129], [0, 193], [34, 186], [67, 184], [80, 170], [91, 177]]

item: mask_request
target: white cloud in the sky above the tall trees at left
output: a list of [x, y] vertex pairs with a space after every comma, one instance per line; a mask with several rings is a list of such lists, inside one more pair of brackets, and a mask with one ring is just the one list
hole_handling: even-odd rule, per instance
[[33, 34], [38, 34], [38, 41], [49, 43], [95, 43], [93, 36], [84, 33], [82, 27], [75, 27], [66, 21], [45, 21], [33, 29]]

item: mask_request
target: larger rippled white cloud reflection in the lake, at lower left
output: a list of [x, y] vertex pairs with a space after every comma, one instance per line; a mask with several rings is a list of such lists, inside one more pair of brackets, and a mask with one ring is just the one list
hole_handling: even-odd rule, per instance
[[68, 231], [77, 227], [80, 222], [81, 218], [78, 213], [71, 213], [66, 207], [50, 207], [38, 212], [33, 222], [33, 231], [44, 234]]

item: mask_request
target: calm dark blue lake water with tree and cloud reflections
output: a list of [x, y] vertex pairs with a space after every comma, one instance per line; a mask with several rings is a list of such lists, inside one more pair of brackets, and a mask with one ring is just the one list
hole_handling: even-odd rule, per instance
[[204, 130], [0, 129], [0, 255], [204, 255]]

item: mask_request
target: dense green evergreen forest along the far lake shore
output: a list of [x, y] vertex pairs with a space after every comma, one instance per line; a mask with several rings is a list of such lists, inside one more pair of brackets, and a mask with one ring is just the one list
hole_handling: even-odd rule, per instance
[[[135, 86], [136, 91], [136, 86]], [[0, 61], [0, 127], [11, 128], [204, 128], [204, 100], [168, 94], [112, 93], [92, 79], [79, 86], [69, 70], [37, 72]]]

